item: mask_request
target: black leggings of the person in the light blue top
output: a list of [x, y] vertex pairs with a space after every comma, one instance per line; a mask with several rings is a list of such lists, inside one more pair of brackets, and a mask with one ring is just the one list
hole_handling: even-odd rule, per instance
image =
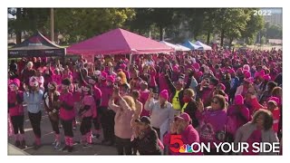
[[33, 127], [34, 135], [37, 138], [41, 138], [42, 132], [40, 129], [40, 122], [42, 120], [42, 111], [39, 111], [37, 113], [31, 113], [28, 111], [28, 117], [29, 117], [31, 126]]

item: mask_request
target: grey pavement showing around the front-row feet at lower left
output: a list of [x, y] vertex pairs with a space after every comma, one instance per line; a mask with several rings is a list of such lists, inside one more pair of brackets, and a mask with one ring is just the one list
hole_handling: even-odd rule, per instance
[[[40, 149], [34, 150], [32, 145], [34, 143], [34, 132], [30, 124], [30, 120], [28, 119], [27, 112], [24, 115], [24, 130], [25, 130], [25, 140], [28, 148], [26, 149], [18, 149], [14, 147], [14, 137], [8, 138], [8, 155], [21, 155], [21, 154], [29, 154], [29, 155], [116, 155], [117, 150], [113, 146], [102, 146], [101, 139], [93, 139], [95, 143], [92, 147], [82, 148], [79, 144], [81, 139], [80, 132], [80, 124], [78, 124], [78, 129], [73, 131], [74, 134], [74, 142], [73, 146], [74, 150], [72, 153], [63, 152], [59, 150], [53, 149], [52, 143], [54, 140], [53, 129], [51, 123], [46, 114], [43, 113], [42, 122], [42, 144], [43, 146]], [[64, 146], [64, 136], [63, 129], [61, 129], [62, 135], [62, 147]]]

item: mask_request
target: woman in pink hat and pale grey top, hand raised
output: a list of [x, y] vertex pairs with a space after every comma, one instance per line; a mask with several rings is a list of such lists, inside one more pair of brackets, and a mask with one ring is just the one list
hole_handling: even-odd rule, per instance
[[[150, 97], [145, 103], [145, 110], [149, 110], [151, 113], [151, 122], [153, 129], [156, 129], [160, 138], [160, 127], [163, 123], [169, 123], [173, 121], [174, 111], [172, 109], [172, 104], [169, 103], [169, 91], [163, 90], [160, 92], [159, 100], [155, 101], [153, 99], [153, 93], [150, 92]], [[163, 137], [163, 136], [162, 136]]]

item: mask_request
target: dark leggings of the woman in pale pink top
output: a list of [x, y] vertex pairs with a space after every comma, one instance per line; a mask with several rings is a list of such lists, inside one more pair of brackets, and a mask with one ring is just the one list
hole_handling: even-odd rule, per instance
[[131, 139], [121, 139], [116, 136], [115, 141], [118, 155], [132, 155]]

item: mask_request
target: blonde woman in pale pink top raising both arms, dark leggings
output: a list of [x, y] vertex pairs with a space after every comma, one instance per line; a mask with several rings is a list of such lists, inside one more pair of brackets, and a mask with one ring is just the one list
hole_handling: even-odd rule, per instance
[[[119, 101], [119, 105], [115, 104], [115, 100]], [[136, 110], [135, 102], [131, 96], [121, 97], [119, 88], [114, 88], [109, 107], [116, 112], [114, 130], [118, 155], [131, 155], [131, 120]]]

